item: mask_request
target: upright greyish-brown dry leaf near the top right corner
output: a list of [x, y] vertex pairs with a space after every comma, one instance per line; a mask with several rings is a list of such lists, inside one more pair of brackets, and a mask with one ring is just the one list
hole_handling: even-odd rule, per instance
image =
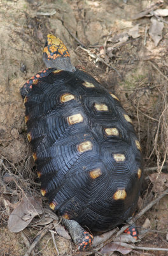
[[154, 17], [151, 18], [151, 26], [149, 34], [154, 41], [155, 46], [158, 45], [162, 39], [162, 30], [164, 28], [164, 23], [156, 20]]

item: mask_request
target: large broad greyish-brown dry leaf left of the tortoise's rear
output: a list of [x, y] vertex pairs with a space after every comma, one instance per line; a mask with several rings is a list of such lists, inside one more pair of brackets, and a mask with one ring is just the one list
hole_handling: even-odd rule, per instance
[[41, 198], [25, 196], [11, 212], [8, 220], [8, 229], [15, 233], [24, 230], [35, 216], [42, 213]]

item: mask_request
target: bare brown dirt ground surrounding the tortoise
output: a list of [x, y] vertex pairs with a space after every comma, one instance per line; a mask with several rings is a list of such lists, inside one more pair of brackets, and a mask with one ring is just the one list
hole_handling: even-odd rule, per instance
[[[0, 0], [0, 255], [87, 255], [76, 252], [71, 240], [58, 232], [57, 249], [52, 232], [46, 232], [27, 253], [38, 232], [53, 221], [51, 212], [36, 216], [22, 232], [10, 232], [7, 227], [11, 211], [24, 195], [40, 197], [20, 87], [44, 67], [41, 56], [48, 33], [62, 39], [73, 64], [114, 93], [132, 118], [144, 157], [137, 212], [167, 189], [168, 14], [158, 17], [153, 12], [157, 9], [167, 10], [168, 1]], [[48, 209], [45, 198], [41, 204]], [[168, 248], [168, 195], [136, 225], [142, 235], [136, 246]], [[122, 255], [110, 253], [98, 254]], [[168, 252], [134, 249], [127, 255]]]

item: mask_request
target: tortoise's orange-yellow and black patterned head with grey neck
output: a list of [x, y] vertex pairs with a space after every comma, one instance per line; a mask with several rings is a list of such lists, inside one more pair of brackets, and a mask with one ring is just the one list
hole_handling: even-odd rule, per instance
[[71, 63], [66, 45], [54, 35], [47, 35], [43, 50], [43, 61], [48, 68], [62, 69], [71, 72], [76, 70]]

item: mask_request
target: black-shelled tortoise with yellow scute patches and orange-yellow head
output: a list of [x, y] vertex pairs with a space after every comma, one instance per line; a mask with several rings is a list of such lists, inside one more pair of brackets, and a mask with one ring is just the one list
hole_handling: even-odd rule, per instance
[[46, 68], [20, 90], [27, 138], [41, 194], [78, 250], [88, 250], [93, 234], [134, 214], [143, 181], [141, 145], [118, 97], [74, 67], [57, 36], [47, 35], [43, 61]]

